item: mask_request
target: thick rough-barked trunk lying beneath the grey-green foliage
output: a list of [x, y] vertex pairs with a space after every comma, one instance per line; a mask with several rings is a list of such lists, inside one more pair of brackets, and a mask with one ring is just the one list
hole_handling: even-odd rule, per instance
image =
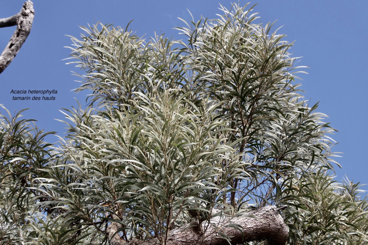
[[[266, 206], [259, 210], [250, 212], [255, 217], [239, 217], [239, 218], [225, 218], [220, 219], [216, 217], [212, 220], [213, 223], [218, 223], [219, 226], [229, 224], [238, 224], [243, 227], [243, 234], [241, 231], [231, 228], [222, 227], [221, 232], [231, 236], [231, 244], [235, 245], [241, 242], [267, 240], [269, 245], [285, 245], [287, 237], [289, 235], [289, 228], [284, 223], [284, 220], [279, 214], [279, 209], [276, 206]], [[203, 224], [205, 226], [205, 224]], [[110, 241], [110, 245], [154, 245], [154, 241], [139, 241], [133, 239], [131, 242], [124, 241], [119, 237], [116, 231], [119, 229], [119, 225], [116, 223], [110, 224], [107, 228], [107, 233]], [[115, 235], [114, 235], [115, 234]], [[215, 232], [213, 228], [208, 228], [205, 232], [204, 245], [228, 245], [229, 243]], [[169, 237], [166, 241], [166, 245], [202, 245], [202, 235], [198, 231], [198, 228], [181, 227], [170, 231]]]

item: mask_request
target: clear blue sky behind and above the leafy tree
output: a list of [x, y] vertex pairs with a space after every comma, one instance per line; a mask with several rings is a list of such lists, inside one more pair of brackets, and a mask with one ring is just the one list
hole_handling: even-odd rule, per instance
[[[25, 0], [8, 0], [0, 4], [0, 18], [9, 17], [20, 11]], [[247, 1], [240, 0], [244, 6]], [[130, 27], [137, 35], [146, 38], [154, 31], [166, 33], [181, 39], [173, 28], [184, 26], [177, 17], [190, 21], [191, 11], [195, 20], [201, 15], [216, 18], [221, 14], [219, 3], [230, 7], [230, 0], [33, 0], [35, 19], [31, 34], [13, 62], [0, 74], [0, 104], [10, 111], [31, 108], [25, 111], [25, 118], [38, 121], [37, 125], [46, 131], [57, 131], [63, 135], [64, 125], [60, 108], [70, 108], [79, 102], [85, 104], [85, 94], [71, 92], [79, 86], [71, 75], [78, 71], [73, 65], [66, 65], [70, 50], [70, 38], [79, 37], [78, 26], [114, 23]], [[249, 6], [257, 2], [252, 2]], [[188, 9], [188, 10], [187, 10]], [[342, 0], [301, 0], [276, 1], [259, 0], [254, 13], [259, 13], [261, 22], [273, 22], [282, 28], [279, 34], [286, 34], [294, 43], [293, 57], [302, 57], [298, 65], [305, 65], [308, 75], [301, 75], [301, 89], [311, 103], [319, 103], [319, 112], [329, 116], [327, 121], [339, 132], [333, 138], [339, 142], [332, 149], [343, 152], [335, 159], [342, 165], [337, 170], [339, 180], [346, 174], [350, 180], [368, 184], [367, 152], [367, 95], [368, 78], [368, 1]], [[15, 27], [0, 29], [0, 49], [3, 50]], [[16, 90], [56, 89], [52, 101], [14, 101], [10, 94]], [[2, 110], [1, 113], [4, 113]], [[55, 142], [57, 138], [47, 138]], [[368, 186], [363, 187], [368, 189]]]

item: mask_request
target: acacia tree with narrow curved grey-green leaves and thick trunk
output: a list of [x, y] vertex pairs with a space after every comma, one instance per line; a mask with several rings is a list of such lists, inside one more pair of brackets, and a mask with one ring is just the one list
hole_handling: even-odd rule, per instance
[[[333, 180], [335, 130], [298, 90], [292, 43], [247, 7], [142, 39], [71, 37], [60, 145], [2, 116], [4, 244], [367, 244], [367, 199]], [[78, 74], [77, 74], [78, 75]]]

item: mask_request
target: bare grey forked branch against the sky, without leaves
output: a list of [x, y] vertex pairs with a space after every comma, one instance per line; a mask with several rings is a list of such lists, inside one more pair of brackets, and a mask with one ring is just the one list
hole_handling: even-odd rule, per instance
[[23, 4], [21, 11], [9, 18], [0, 19], [0, 27], [17, 25], [13, 36], [0, 56], [0, 73], [13, 61], [31, 32], [33, 17], [33, 3], [29, 0]]

